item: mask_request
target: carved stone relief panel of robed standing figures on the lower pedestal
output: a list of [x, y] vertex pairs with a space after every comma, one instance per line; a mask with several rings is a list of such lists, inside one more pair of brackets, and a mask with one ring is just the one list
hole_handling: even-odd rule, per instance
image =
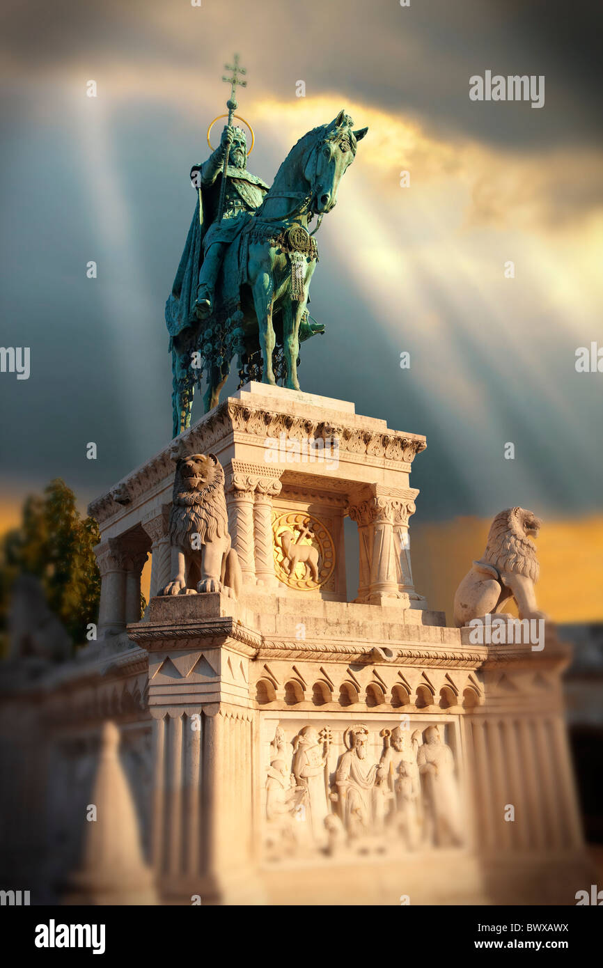
[[426, 717], [262, 718], [268, 859], [460, 847], [458, 723]]

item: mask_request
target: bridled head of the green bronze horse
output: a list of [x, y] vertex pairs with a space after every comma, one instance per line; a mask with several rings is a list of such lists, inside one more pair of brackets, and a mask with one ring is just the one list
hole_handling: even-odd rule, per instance
[[311, 185], [310, 205], [317, 215], [335, 208], [341, 177], [354, 160], [358, 141], [369, 130], [353, 131], [352, 124], [342, 109], [330, 124], [316, 129], [319, 139], [308, 156], [304, 177]]

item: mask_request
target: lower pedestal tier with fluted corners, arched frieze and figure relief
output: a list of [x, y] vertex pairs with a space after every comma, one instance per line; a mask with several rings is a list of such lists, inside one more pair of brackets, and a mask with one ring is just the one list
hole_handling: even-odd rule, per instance
[[474, 646], [402, 603], [308, 599], [300, 621], [258, 589], [154, 598], [128, 632], [149, 654], [166, 897], [571, 903], [588, 876], [554, 636]]

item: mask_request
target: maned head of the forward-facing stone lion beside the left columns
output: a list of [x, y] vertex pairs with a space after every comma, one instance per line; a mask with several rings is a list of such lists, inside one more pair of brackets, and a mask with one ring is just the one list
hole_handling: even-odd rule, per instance
[[176, 464], [169, 537], [171, 543], [191, 550], [191, 534], [201, 544], [228, 533], [224, 470], [214, 454], [190, 454]]

